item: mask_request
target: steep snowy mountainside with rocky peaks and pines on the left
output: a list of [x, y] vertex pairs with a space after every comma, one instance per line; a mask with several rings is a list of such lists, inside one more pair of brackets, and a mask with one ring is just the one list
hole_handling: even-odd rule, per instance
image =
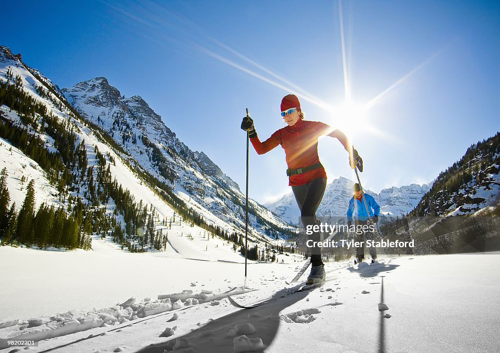
[[[0, 170], [17, 210], [34, 180], [33, 211], [42, 202], [63, 207], [78, 234], [109, 235], [133, 251], [240, 258], [233, 251], [244, 233], [238, 185], [179, 141], [141, 97], [121, 96], [103, 77], [60, 90], [4, 46], [0, 83]], [[250, 242], [293, 232], [250, 200]], [[234, 244], [207, 244], [207, 233]]]

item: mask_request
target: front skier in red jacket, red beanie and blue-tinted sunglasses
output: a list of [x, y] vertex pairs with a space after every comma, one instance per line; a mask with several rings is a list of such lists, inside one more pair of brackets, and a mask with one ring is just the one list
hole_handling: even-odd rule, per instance
[[[319, 121], [304, 120], [300, 109], [300, 102], [294, 94], [288, 94], [281, 100], [281, 116], [287, 126], [274, 132], [267, 140], [260, 142], [253, 120], [244, 117], [241, 129], [248, 131], [250, 141], [258, 154], [263, 154], [277, 145], [281, 145], [286, 154], [289, 177], [289, 186], [293, 191], [298, 208], [300, 220], [304, 227], [319, 224], [316, 210], [323, 198], [326, 188], [326, 172], [319, 162], [317, 154], [318, 137], [328, 135], [337, 138], [349, 152], [349, 164], [352, 168], [363, 170], [363, 161], [357, 151], [350, 145], [347, 137], [340, 131]], [[321, 234], [315, 232], [307, 239], [314, 244], [320, 241]], [[321, 261], [321, 248], [311, 248], [311, 271], [306, 284], [321, 282], [325, 278], [324, 264]]]

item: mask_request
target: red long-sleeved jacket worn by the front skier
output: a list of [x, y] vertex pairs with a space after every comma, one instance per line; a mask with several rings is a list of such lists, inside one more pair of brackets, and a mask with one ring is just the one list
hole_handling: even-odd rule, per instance
[[[297, 169], [318, 163], [318, 137], [321, 135], [328, 135], [336, 138], [341, 137], [337, 132], [338, 130], [333, 130], [330, 126], [322, 122], [298, 119], [293, 126], [285, 126], [277, 130], [264, 142], [260, 142], [258, 136], [251, 138], [250, 141], [258, 154], [264, 154], [277, 145], [281, 145], [286, 154], [286, 164], [288, 168]], [[346, 146], [346, 141], [340, 142]], [[304, 185], [314, 178], [326, 179], [324, 168], [321, 167], [302, 174], [290, 175], [288, 178], [288, 185]]]

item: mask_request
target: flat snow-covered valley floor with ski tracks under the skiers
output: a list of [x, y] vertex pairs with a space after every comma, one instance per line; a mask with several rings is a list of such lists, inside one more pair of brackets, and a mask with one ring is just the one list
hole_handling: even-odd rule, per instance
[[[241, 263], [129, 254], [98, 242], [93, 252], [0, 247], [0, 339], [29, 333], [19, 339], [46, 339], [28, 352], [61, 353], [497, 352], [500, 347], [499, 253], [385, 257], [355, 267], [328, 263], [322, 288], [241, 310], [224, 294], [234, 287], [232, 294], [248, 292]], [[246, 286], [258, 290], [233, 298], [252, 303], [281, 296], [293, 287], [284, 280], [300, 266], [298, 261], [249, 264]], [[127, 301], [130, 297], [135, 302]], [[118, 303], [123, 306], [114, 307]], [[388, 310], [379, 311], [384, 309], [379, 303]], [[85, 328], [90, 329], [77, 332]], [[61, 336], [49, 338], [54, 332]], [[7, 348], [0, 341], [1, 352], [24, 347]]]

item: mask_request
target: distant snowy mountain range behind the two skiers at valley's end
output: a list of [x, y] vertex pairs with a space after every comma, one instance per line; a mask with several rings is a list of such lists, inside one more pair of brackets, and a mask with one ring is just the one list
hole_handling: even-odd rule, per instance
[[[349, 200], [352, 197], [353, 185], [353, 181], [343, 177], [336, 178], [327, 184], [323, 201], [316, 212], [317, 216], [345, 216]], [[401, 216], [415, 208], [422, 196], [429, 190], [430, 185], [411, 184], [401, 187], [391, 187], [383, 189], [379, 194], [371, 190], [365, 190], [365, 192], [373, 196], [375, 201], [380, 205], [382, 214], [386, 216]], [[276, 201], [264, 203], [264, 206], [290, 224], [298, 224], [300, 212], [291, 191]]]

